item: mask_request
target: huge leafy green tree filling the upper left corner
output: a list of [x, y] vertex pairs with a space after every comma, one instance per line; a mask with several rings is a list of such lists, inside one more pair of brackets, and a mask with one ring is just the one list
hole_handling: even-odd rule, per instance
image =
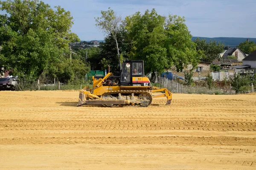
[[0, 1], [0, 63], [12, 74], [35, 80], [45, 70], [54, 69], [69, 42], [79, 41], [70, 31], [73, 17], [60, 6], [53, 10], [39, 0]]

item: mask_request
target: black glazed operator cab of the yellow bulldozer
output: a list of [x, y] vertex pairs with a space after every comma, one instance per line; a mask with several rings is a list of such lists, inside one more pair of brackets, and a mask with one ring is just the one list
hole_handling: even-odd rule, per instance
[[133, 77], [144, 77], [143, 60], [128, 60], [123, 62], [121, 85], [133, 85]]

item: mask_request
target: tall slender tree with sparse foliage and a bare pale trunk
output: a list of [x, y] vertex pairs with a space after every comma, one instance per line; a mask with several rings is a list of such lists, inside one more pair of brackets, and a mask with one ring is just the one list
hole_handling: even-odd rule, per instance
[[105, 34], [111, 35], [116, 42], [117, 57], [119, 60], [119, 68], [122, 70], [122, 58], [120, 57], [117, 33], [120, 30], [121, 16], [117, 16], [115, 12], [108, 8], [108, 11], [101, 11], [102, 16], [95, 18], [96, 26]]

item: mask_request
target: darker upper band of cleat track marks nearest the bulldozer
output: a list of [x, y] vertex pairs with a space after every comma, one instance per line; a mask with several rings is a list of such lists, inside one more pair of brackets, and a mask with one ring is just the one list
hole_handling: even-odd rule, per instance
[[214, 130], [256, 131], [256, 121], [209, 120], [0, 120], [0, 130]]

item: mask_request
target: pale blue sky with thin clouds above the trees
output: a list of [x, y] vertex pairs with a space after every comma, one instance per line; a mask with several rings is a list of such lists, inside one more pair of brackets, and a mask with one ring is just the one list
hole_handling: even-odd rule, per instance
[[256, 38], [256, 0], [43, 0], [65, 8], [74, 17], [72, 31], [81, 40], [103, 40], [94, 17], [111, 7], [124, 19], [155, 8], [158, 14], [184, 16], [195, 37]]

